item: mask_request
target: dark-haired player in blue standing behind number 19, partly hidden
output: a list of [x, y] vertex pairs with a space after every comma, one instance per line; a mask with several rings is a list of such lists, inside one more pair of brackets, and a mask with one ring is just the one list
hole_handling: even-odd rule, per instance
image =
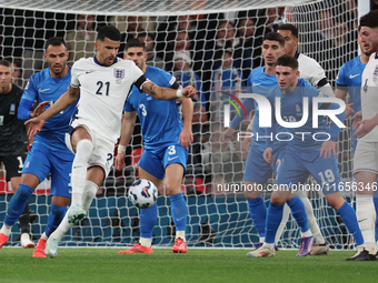
[[[265, 60], [265, 65], [251, 71], [247, 81], [247, 91], [248, 93], [267, 95], [269, 90], [277, 85], [275, 62], [279, 57], [285, 54], [285, 39], [282, 36], [276, 32], [267, 33], [262, 41], [261, 52]], [[277, 156], [275, 164], [267, 163], [262, 158], [265, 140], [257, 139], [258, 135], [265, 135], [265, 130], [259, 127], [258, 104], [253, 99], [243, 99], [242, 104], [247, 114], [255, 110], [255, 121], [252, 128], [253, 137], [246, 161], [246, 172], [243, 180], [246, 188], [257, 188], [258, 185], [265, 184], [268, 181], [268, 179], [271, 176], [272, 170], [276, 173], [276, 170], [280, 164], [281, 156], [284, 158], [286, 144], [280, 143], [280, 146], [275, 149], [275, 154]], [[240, 113], [242, 113], [242, 111], [240, 111]], [[232, 119], [230, 127], [222, 134], [223, 142], [228, 142], [231, 139], [235, 129], [243, 118], [245, 114], [241, 117], [236, 115]], [[246, 190], [243, 193], [248, 202], [251, 219], [253, 220], [257, 232], [259, 233], [260, 243], [263, 243], [265, 222], [267, 214], [267, 208], [263, 198], [261, 196], [261, 192], [258, 190]]]

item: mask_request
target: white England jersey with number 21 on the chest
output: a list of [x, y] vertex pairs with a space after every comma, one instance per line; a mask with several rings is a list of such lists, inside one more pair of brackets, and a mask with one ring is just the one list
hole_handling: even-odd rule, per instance
[[80, 124], [116, 143], [126, 98], [143, 72], [130, 60], [117, 58], [112, 65], [105, 67], [97, 59], [87, 58], [74, 62], [71, 75], [71, 85], [80, 87]]

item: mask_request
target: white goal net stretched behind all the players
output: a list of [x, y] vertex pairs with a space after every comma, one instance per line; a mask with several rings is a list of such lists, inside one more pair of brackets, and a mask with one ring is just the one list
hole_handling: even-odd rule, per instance
[[[259, 239], [242, 193], [247, 153], [236, 137], [221, 142], [222, 93], [238, 95], [246, 90], [249, 72], [262, 64], [262, 37], [282, 22], [299, 29], [298, 50], [315, 58], [335, 87], [338, 69], [358, 54], [357, 1], [276, 0], [0, 0], [1, 57], [14, 67], [14, 83], [24, 87], [29, 77], [47, 68], [43, 43], [63, 37], [70, 63], [94, 54], [94, 31], [116, 26], [125, 41], [140, 37], [147, 43], [148, 64], [171, 72], [181, 85], [198, 90], [187, 173], [181, 190], [188, 203], [189, 246], [251, 247]], [[231, 68], [226, 68], [231, 58]], [[225, 68], [222, 68], [222, 65]], [[153, 78], [151, 78], [153, 80]], [[231, 118], [236, 111], [230, 111]], [[249, 121], [243, 121], [243, 131]], [[350, 125], [350, 122], [348, 122]], [[340, 133], [338, 161], [344, 182], [352, 180], [349, 129]], [[112, 170], [94, 199], [88, 218], [62, 239], [67, 246], [123, 246], [139, 236], [139, 211], [128, 201], [129, 185], [138, 178], [137, 162], [142, 135], [137, 124], [127, 151], [127, 168]], [[272, 180], [270, 180], [272, 182]], [[311, 180], [309, 181], [311, 182]], [[49, 180], [30, 199], [32, 234], [43, 233], [50, 208]], [[12, 195], [0, 174], [0, 220]], [[265, 191], [268, 204], [270, 193]], [[354, 195], [346, 195], [354, 204]], [[310, 193], [315, 215], [328, 242], [336, 249], [354, 247], [344, 223], [319, 193]], [[165, 192], [158, 200], [159, 220], [153, 244], [171, 246], [175, 225]], [[19, 245], [14, 225], [9, 241]], [[298, 247], [299, 229], [290, 216], [281, 247]]]

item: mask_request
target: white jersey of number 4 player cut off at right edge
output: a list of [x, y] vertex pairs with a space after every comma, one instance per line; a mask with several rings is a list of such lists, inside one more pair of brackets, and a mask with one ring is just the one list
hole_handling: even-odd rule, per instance
[[[371, 119], [378, 113], [378, 57], [372, 53], [362, 72], [361, 111], [362, 119]], [[366, 142], [378, 142], [378, 127], [361, 138]]]

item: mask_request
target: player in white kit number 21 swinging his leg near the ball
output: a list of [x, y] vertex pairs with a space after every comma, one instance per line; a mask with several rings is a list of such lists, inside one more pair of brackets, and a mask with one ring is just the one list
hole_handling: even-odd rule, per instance
[[44, 253], [57, 255], [58, 242], [74, 223], [86, 218], [87, 211], [102, 181], [113, 164], [113, 151], [120, 135], [126, 98], [132, 85], [159, 100], [193, 97], [196, 89], [160, 88], [146, 79], [130, 60], [117, 58], [121, 34], [112, 26], [98, 32], [96, 55], [80, 59], [71, 71], [71, 85], [43, 114], [27, 122], [28, 134], [39, 132], [44, 122], [64, 111], [80, 94], [78, 111], [72, 117], [66, 135], [67, 146], [76, 154], [72, 163], [72, 202], [59, 228], [50, 235]]

